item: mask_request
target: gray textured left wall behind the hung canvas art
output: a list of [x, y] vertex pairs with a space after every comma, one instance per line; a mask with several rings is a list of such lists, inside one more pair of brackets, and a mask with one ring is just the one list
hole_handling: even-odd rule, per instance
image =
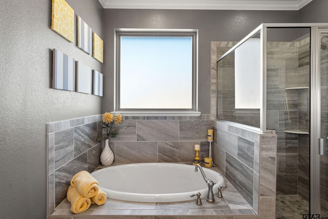
[[[98, 1], [67, 2], [103, 37]], [[0, 218], [46, 218], [46, 123], [101, 113], [101, 97], [51, 89], [51, 50], [103, 65], [51, 30], [50, 0], [2, 0], [0, 11]]]

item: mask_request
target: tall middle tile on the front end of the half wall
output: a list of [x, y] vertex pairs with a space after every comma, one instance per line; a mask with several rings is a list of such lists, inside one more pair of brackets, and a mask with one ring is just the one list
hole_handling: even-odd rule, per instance
[[274, 196], [276, 191], [276, 157], [260, 157], [260, 195]]

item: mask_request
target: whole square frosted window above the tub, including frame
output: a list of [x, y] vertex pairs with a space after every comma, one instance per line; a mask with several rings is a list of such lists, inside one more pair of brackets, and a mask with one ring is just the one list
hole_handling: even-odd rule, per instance
[[197, 111], [196, 30], [116, 30], [117, 112]]

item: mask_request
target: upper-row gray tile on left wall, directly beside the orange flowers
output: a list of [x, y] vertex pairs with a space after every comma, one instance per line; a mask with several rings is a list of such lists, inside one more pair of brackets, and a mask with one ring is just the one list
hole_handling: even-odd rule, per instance
[[89, 123], [74, 128], [74, 157], [97, 144], [97, 123]]

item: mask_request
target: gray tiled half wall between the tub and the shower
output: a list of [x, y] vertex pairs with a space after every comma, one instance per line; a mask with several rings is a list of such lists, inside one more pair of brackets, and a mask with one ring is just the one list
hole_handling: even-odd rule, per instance
[[[275, 215], [276, 135], [214, 121], [213, 161], [260, 216]], [[271, 208], [261, 211], [262, 202]]]

